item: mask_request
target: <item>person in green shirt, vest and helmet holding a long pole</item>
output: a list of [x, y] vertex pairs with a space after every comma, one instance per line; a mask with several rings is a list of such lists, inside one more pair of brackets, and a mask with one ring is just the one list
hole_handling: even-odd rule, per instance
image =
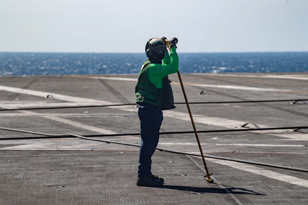
[[177, 38], [170, 40], [171, 53], [167, 50], [166, 37], [151, 38], [145, 53], [148, 59], [141, 67], [136, 84], [136, 103], [140, 120], [140, 153], [137, 186], [163, 186], [164, 179], [151, 172], [151, 157], [159, 140], [162, 110], [175, 108], [168, 75], [176, 73], [179, 57], [176, 53]]

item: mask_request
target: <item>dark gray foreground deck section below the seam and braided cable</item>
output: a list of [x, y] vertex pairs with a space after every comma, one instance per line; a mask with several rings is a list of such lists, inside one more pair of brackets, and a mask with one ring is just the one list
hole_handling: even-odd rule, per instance
[[[283, 204], [306, 199], [306, 188], [243, 175], [211, 162], [208, 164], [215, 170], [215, 182], [209, 184], [193, 163], [202, 165], [201, 159], [192, 161], [190, 157], [168, 152], [153, 156], [153, 173], [166, 181], [163, 187], [156, 188], [135, 185], [135, 151], [41, 150], [1, 154], [6, 156], [2, 163], [2, 175], [6, 178], [2, 182], [9, 184], [2, 186], [6, 193], [2, 204], [237, 204], [237, 200], [243, 204], [263, 204], [273, 197], [276, 199], [272, 204]], [[284, 189], [295, 193], [285, 193]]]

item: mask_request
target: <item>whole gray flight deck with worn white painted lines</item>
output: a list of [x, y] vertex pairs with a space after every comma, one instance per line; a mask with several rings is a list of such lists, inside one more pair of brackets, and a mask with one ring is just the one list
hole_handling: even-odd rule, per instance
[[[164, 111], [160, 132], [191, 132], [186, 105], [179, 104], [184, 97], [178, 77], [169, 78], [176, 108]], [[0, 127], [138, 144], [136, 79], [0, 77]], [[199, 73], [182, 74], [182, 80], [205, 153], [308, 168], [308, 131], [292, 129], [307, 126], [307, 73]], [[303, 101], [278, 101], [293, 99]], [[106, 106], [80, 107], [97, 105]], [[282, 127], [290, 129], [249, 130]], [[202, 132], [234, 129], [247, 130]], [[105, 136], [110, 134], [132, 135]], [[194, 133], [161, 134], [158, 146], [199, 152]], [[165, 179], [164, 186], [137, 187], [138, 151], [136, 146], [0, 129], [0, 204], [308, 203], [306, 172], [206, 158], [214, 179], [210, 184], [200, 157], [160, 151], [154, 153], [152, 172]]]

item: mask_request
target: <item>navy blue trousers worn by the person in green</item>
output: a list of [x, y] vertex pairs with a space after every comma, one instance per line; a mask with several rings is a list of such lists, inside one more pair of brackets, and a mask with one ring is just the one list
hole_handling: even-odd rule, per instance
[[163, 112], [158, 106], [148, 103], [139, 103], [138, 116], [141, 134], [138, 177], [150, 176], [152, 174], [151, 157], [158, 144], [160, 125], [163, 121]]

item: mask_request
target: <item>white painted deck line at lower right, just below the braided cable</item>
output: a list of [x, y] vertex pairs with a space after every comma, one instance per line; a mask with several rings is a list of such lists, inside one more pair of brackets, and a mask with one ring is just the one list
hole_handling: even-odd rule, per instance
[[[193, 157], [198, 157], [198, 156], [193, 156]], [[243, 171], [248, 171], [254, 174], [258, 174], [258, 175], [262, 175], [262, 176], [266, 176], [272, 179], [277, 179], [279, 181], [283, 181], [283, 182], [287, 182], [287, 183], [291, 183], [291, 184], [295, 184], [298, 186], [303, 186], [303, 187], [307, 187], [308, 188], [308, 181], [304, 180], [304, 179], [299, 179], [293, 176], [289, 176], [289, 175], [285, 175], [285, 174], [281, 174], [275, 171], [270, 171], [270, 170], [266, 170], [266, 169], [262, 169], [262, 168], [258, 168], [255, 166], [251, 166], [245, 163], [240, 163], [240, 162], [233, 162], [233, 161], [227, 161], [227, 160], [217, 160], [217, 159], [212, 159], [212, 158], [206, 158], [206, 161], [211, 161], [217, 164], [222, 164], [225, 166], [229, 166], [232, 168], [236, 168], [236, 169], [240, 169]]]

